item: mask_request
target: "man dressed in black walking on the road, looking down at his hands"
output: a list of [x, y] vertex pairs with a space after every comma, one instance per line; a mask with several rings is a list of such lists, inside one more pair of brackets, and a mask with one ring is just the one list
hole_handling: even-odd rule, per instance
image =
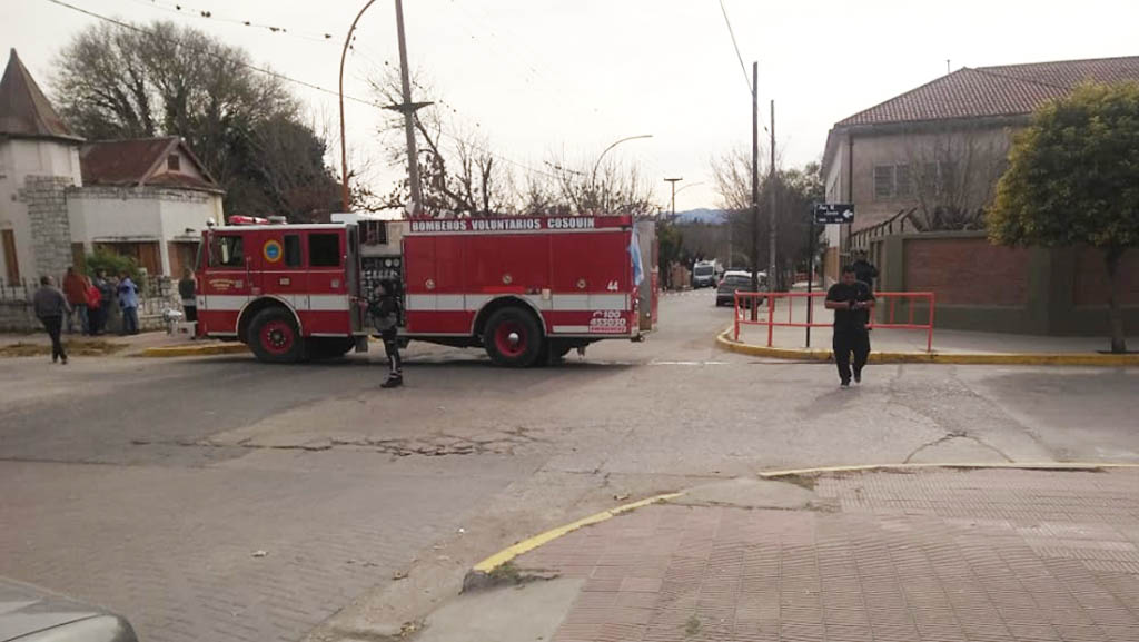
[[[870, 333], [866, 322], [874, 308], [874, 292], [858, 279], [854, 266], [843, 268], [843, 278], [827, 291], [827, 309], [835, 311], [835, 335], [831, 347], [838, 380], [843, 388], [850, 388], [851, 375], [854, 383], [862, 382], [862, 367], [870, 356]], [[851, 372], [851, 352], [854, 353], [854, 369]]]

